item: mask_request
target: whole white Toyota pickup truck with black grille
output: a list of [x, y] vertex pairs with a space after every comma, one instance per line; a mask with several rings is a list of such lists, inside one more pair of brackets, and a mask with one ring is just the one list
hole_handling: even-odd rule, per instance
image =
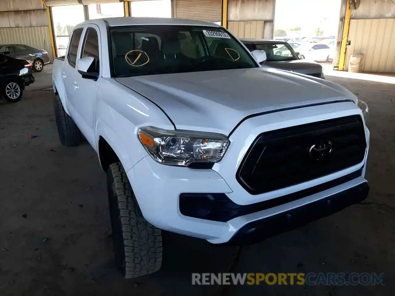
[[367, 197], [367, 105], [264, 59], [209, 22], [75, 26], [53, 65], [56, 124], [107, 172], [125, 277], [160, 269], [161, 230], [249, 244]]

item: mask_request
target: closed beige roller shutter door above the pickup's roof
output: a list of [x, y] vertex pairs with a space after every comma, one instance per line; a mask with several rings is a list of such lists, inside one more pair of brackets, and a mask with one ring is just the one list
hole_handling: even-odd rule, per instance
[[174, 16], [180, 19], [220, 22], [221, 0], [175, 0]]

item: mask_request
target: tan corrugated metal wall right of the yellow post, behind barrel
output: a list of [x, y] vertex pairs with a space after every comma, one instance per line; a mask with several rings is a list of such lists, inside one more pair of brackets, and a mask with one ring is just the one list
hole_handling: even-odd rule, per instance
[[364, 72], [395, 73], [395, 19], [352, 19], [346, 67], [352, 54], [363, 53]]

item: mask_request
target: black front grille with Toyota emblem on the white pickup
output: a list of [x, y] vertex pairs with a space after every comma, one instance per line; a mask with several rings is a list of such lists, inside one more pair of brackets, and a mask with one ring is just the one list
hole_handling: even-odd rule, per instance
[[250, 194], [261, 194], [361, 163], [365, 150], [359, 115], [287, 127], [260, 134], [236, 178]]

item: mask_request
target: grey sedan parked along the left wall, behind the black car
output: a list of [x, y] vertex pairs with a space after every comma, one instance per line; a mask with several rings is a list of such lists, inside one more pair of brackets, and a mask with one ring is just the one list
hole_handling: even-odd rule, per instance
[[51, 62], [47, 51], [24, 44], [0, 44], [0, 53], [28, 60], [36, 72], [41, 72], [44, 65]]

